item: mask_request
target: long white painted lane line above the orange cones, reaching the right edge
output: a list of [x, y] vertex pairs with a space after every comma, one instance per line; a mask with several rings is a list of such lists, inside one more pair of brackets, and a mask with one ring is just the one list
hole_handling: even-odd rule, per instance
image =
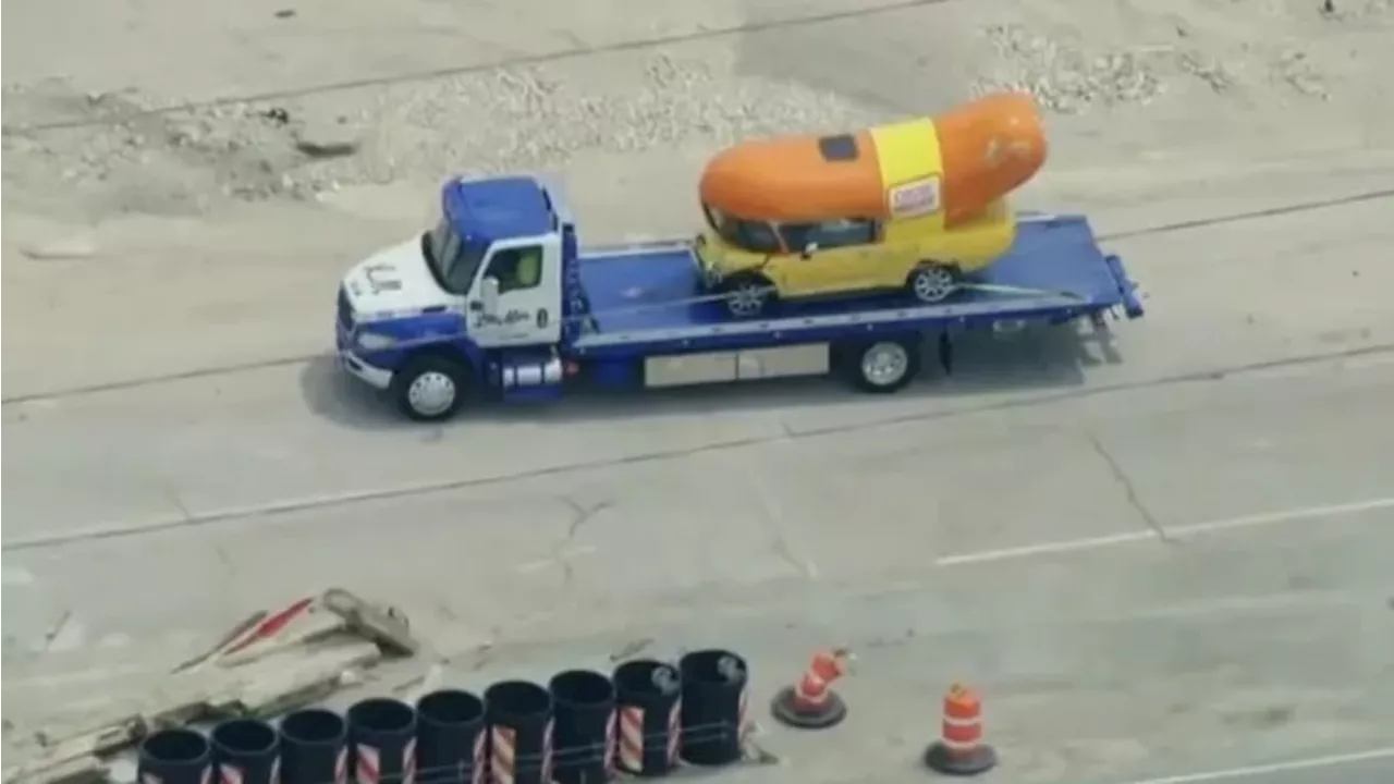
[[[1380, 509], [1394, 509], [1394, 497], [1372, 498], [1368, 501], [1354, 501], [1349, 504], [1328, 504], [1324, 506], [1303, 506], [1298, 509], [1284, 509], [1278, 512], [1263, 512], [1257, 515], [1243, 515], [1239, 518], [1225, 518], [1221, 520], [1207, 520], [1202, 523], [1188, 523], [1167, 527], [1167, 537], [1179, 540], [1190, 536], [1228, 532], [1235, 529], [1253, 529], [1277, 523], [1291, 523], [1296, 520], [1313, 520], [1322, 518], [1341, 518], [1359, 515], [1362, 512], [1376, 512]], [[1055, 555], [1061, 552], [1080, 552], [1085, 550], [1100, 550], [1119, 544], [1135, 544], [1139, 541], [1158, 541], [1157, 532], [1135, 530], [1108, 536], [1093, 536], [1085, 538], [1066, 538], [1061, 541], [1043, 541], [1039, 544], [1023, 544], [1020, 547], [1004, 547], [999, 550], [979, 550], [976, 552], [960, 552], [945, 555], [934, 561], [935, 566], [963, 566], [969, 564], [990, 564], [993, 561], [1011, 561], [1015, 558], [1032, 558], [1036, 555]]]

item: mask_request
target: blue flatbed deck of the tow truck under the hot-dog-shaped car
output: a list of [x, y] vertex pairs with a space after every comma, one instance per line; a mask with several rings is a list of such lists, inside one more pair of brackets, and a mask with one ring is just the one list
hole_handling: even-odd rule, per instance
[[905, 293], [776, 303], [767, 318], [736, 319], [703, 287], [687, 243], [583, 251], [591, 319], [579, 354], [662, 353], [835, 340], [857, 333], [973, 326], [1030, 318], [1069, 319], [1122, 307], [1142, 314], [1122, 262], [1104, 254], [1079, 215], [1023, 216], [1012, 250], [969, 276], [941, 304]]

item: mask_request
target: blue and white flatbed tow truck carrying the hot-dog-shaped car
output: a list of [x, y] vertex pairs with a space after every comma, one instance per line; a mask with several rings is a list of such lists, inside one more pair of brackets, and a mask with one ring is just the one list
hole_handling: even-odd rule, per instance
[[965, 329], [1143, 314], [1080, 215], [1023, 213], [1012, 250], [945, 303], [866, 294], [740, 319], [704, 286], [700, 239], [583, 250], [560, 190], [535, 177], [452, 180], [441, 202], [435, 229], [354, 266], [337, 299], [340, 363], [418, 421], [471, 398], [551, 400], [580, 385], [831, 372], [888, 393], [913, 381], [927, 340], [948, 370]]

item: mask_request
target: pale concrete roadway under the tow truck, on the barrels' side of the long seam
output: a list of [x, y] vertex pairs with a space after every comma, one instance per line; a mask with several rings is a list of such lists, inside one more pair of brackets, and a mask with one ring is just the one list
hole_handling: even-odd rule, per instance
[[903, 781], [953, 679], [1018, 784], [1386, 745], [1383, 212], [1119, 240], [1153, 312], [1114, 346], [983, 340], [895, 400], [814, 382], [408, 428], [316, 360], [13, 402], [0, 703], [91, 710], [339, 583], [407, 608], [471, 688], [719, 644], [763, 698], [857, 649], [849, 723], [764, 721], [788, 764], [733, 778]]

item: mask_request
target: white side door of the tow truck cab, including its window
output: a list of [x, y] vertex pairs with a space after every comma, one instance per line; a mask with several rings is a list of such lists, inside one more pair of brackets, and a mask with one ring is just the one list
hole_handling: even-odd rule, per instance
[[562, 336], [560, 237], [495, 243], [466, 307], [470, 335], [481, 347], [556, 343]]

